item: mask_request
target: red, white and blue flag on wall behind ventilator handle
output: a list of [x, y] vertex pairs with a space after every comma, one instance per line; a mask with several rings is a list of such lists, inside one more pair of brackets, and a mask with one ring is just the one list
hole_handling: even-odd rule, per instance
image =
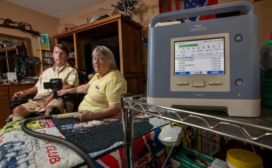
[[[198, 8], [202, 6], [216, 5], [218, 0], [159, 0], [159, 13], [179, 11], [183, 9]], [[214, 15], [181, 18], [181, 22], [193, 22], [198, 20], [215, 19]]]

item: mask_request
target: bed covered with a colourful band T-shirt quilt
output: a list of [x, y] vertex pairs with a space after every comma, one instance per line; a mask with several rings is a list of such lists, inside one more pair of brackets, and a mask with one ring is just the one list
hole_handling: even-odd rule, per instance
[[[22, 121], [10, 122], [0, 130], [0, 167], [87, 167], [72, 149], [56, 142], [30, 136]], [[161, 167], [166, 160], [158, 141], [167, 120], [134, 112], [134, 167]], [[122, 167], [124, 136], [122, 117], [81, 122], [74, 118], [35, 120], [27, 127], [40, 133], [65, 138], [83, 149], [98, 167]]]

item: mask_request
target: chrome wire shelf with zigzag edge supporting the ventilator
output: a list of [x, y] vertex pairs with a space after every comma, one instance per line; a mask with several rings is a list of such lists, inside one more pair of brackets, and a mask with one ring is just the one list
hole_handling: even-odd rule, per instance
[[223, 111], [185, 111], [152, 105], [146, 103], [146, 96], [136, 95], [135, 100], [125, 99], [125, 108], [272, 150], [270, 107], [261, 107], [260, 117], [230, 117]]

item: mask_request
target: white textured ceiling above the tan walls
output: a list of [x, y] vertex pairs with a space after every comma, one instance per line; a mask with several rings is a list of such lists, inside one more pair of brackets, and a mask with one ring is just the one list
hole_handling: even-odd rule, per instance
[[[40, 13], [62, 18], [106, 0], [4, 0]], [[110, 6], [110, 4], [109, 4]]]

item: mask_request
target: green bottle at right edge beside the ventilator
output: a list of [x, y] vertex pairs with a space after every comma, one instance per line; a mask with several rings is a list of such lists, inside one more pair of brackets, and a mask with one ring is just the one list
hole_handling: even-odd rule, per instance
[[261, 106], [272, 107], [272, 31], [260, 51]]

